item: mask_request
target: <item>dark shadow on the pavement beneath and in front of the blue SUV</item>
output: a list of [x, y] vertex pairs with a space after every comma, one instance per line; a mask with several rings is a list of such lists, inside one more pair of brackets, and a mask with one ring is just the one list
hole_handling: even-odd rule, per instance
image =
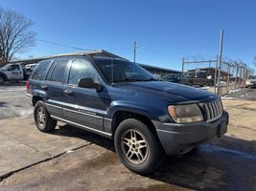
[[[82, 138], [115, 152], [112, 140], [70, 125], [60, 125], [52, 134]], [[159, 169], [146, 177], [164, 183], [161, 190], [169, 190], [173, 185], [196, 190], [253, 190], [256, 187], [255, 148], [255, 140], [213, 138], [196, 152], [166, 157]]]

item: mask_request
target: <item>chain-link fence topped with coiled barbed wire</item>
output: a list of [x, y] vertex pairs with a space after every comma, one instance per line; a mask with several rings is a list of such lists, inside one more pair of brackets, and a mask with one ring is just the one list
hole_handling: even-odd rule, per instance
[[[221, 70], [220, 76], [219, 70]], [[203, 59], [203, 56], [189, 56], [182, 59], [181, 78], [183, 80], [181, 80], [181, 83], [200, 86], [223, 96], [244, 88], [246, 79], [253, 72], [240, 60], [224, 57], [221, 60], [221, 67], [219, 67], [218, 57]]]

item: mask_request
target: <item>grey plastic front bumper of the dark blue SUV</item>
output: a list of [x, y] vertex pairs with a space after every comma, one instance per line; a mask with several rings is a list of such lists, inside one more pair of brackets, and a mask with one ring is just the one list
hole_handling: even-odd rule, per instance
[[[198, 144], [217, 137], [221, 124], [228, 124], [228, 113], [214, 122], [195, 122], [187, 124], [161, 123], [154, 121], [156, 132], [167, 155], [189, 152]], [[226, 129], [224, 129], [224, 132]]]

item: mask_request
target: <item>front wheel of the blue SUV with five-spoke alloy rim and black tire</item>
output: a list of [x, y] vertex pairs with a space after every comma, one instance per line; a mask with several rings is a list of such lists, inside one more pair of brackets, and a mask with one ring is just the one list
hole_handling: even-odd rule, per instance
[[135, 118], [120, 123], [114, 142], [119, 159], [132, 172], [151, 174], [164, 159], [158, 139], [143, 122]]

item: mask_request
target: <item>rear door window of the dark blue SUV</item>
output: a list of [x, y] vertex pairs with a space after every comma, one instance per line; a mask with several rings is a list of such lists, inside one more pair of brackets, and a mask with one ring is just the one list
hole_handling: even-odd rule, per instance
[[58, 60], [54, 63], [53, 73], [51, 74], [51, 81], [62, 82], [66, 71], [68, 60]]

